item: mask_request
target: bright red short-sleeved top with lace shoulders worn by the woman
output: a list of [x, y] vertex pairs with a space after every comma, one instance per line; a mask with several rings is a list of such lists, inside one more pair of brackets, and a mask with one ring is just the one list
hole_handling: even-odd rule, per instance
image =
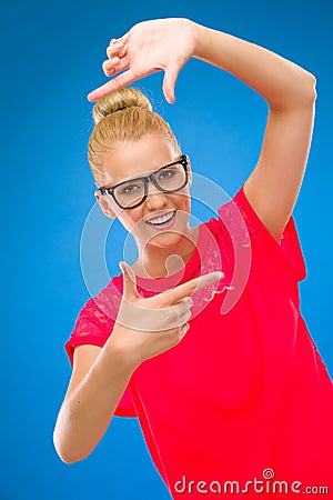
[[[192, 296], [186, 336], [134, 371], [115, 414], [138, 416], [173, 498], [216, 498], [224, 488], [234, 488], [230, 498], [243, 498], [238, 488], [248, 499], [268, 498], [263, 488], [285, 498], [322, 486], [333, 498], [333, 386], [300, 313], [306, 271], [294, 220], [278, 243], [243, 187], [233, 201], [200, 226], [175, 282], [221, 267], [220, 293]], [[137, 277], [138, 289], [150, 297], [175, 277]], [[88, 300], [65, 344], [71, 363], [74, 346], [105, 343], [121, 293], [122, 274]]]

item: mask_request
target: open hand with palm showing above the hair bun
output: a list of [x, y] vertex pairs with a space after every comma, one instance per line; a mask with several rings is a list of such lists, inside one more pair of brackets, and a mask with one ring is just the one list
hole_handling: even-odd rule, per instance
[[90, 92], [88, 99], [95, 101], [148, 74], [164, 71], [163, 93], [168, 102], [174, 102], [178, 74], [194, 53], [194, 26], [182, 18], [143, 21], [122, 38], [111, 40], [104, 73], [112, 77], [124, 72]]

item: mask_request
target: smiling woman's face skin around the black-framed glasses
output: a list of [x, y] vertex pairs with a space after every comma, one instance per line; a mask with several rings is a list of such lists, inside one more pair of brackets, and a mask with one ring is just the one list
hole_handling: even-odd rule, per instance
[[[162, 134], [144, 136], [138, 141], [127, 141], [115, 144], [114, 149], [103, 159], [104, 183], [110, 188], [124, 180], [151, 172], [180, 159], [170, 142]], [[191, 171], [191, 167], [186, 167]], [[191, 212], [190, 198], [191, 174], [188, 184], [176, 192], [162, 192], [149, 182], [147, 199], [130, 210], [121, 209], [113, 197], [95, 191], [95, 198], [105, 216], [118, 218], [123, 227], [133, 234], [140, 248], [145, 244], [157, 247], [174, 247], [182, 236], [188, 233], [189, 214]], [[172, 226], [169, 228], [153, 226], [147, 220], [161, 217], [175, 210]]]

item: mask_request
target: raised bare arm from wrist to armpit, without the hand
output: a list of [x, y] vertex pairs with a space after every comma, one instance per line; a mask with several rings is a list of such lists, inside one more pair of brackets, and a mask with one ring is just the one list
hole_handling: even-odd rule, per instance
[[305, 172], [313, 131], [315, 78], [253, 43], [200, 26], [195, 30], [194, 57], [240, 78], [268, 101], [261, 154], [244, 183], [244, 192], [279, 241]]

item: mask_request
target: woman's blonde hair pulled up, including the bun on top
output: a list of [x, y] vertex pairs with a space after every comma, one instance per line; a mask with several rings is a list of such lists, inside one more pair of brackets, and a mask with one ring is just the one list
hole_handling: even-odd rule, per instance
[[149, 99], [139, 89], [125, 87], [100, 99], [93, 107], [95, 122], [89, 139], [88, 160], [98, 187], [103, 184], [103, 154], [114, 142], [135, 141], [150, 133], [163, 134], [175, 152], [180, 146], [163, 118], [152, 111]]

